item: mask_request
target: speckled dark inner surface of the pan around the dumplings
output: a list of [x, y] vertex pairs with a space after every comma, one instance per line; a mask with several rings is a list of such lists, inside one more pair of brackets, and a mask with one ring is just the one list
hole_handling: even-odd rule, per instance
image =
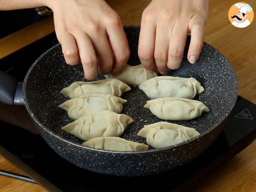
[[[128, 61], [130, 65], [140, 64], [137, 55], [139, 31], [139, 27], [125, 27], [131, 49], [131, 57]], [[196, 64], [190, 64], [186, 59], [189, 42], [188, 36], [181, 67], [172, 70], [168, 75], [194, 77], [201, 82], [205, 91], [195, 99], [204, 102], [210, 111], [193, 120], [168, 122], [192, 127], [200, 134], [205, 134], [219, 125], [232, 110], [238, 91], [236, 73], [227, 59], [208, 44], [204, 44]], [[104, 76], [99, 75], [97, 80], [99, 79], [104, 79]], [[29, 69], [25, 79], [24, 95], [30, 114], [35, 116], [41, 125], [59, 137], [81, 144], [82, 140], [61, 130], [61, 127], [72, 120], [69, 119], [66, 111], [58, 108], [58, 105], [68, 100], [60, 93], [61, 89], [74, 81], [87, 81], [83, 77], [82, 66], [67, 65], [61, 53], [61, 46], [57, 45], [38, 58]], [[127, 127], [121, 137], [146, 143], [144, 138], [137, 136], [138, 131], [143, 125], [162, 120], [143, 108], [150, 99], [137, 86], [131, 86], [131, 91], [124, 93], [122, 98], [128, 100], [123, 105], [122, 113], [131, 116], [134, 122]]]

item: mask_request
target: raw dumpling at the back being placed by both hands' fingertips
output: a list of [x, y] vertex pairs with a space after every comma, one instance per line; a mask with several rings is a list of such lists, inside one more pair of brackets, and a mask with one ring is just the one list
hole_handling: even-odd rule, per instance
[[136, 66], [126, 65], [120, 75], [113, 76], [112, 74], [107, 74], [105, 78], [115, 78], [130, 85], [140, 85], [142, 82], [155, 76], [157, 76], [157, 73], [145, 70], [140, 64]]

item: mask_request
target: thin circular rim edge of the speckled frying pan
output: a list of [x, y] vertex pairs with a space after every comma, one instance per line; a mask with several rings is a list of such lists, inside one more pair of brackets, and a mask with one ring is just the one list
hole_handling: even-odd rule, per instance
[[[129, 28], [129, 27], [133, 27], [133, 28], [140, 28], [140, 26], [124, 26], [124, 28]], [[204, 44], [212, 47], [211, 45], [207, 44], [206, 42], [204, 42]], [[216, 51], [218, 51], [219, 54], [221, 54], [221, 56], [223, 58], [225, 58], [227, 60], [227, 62], [230, 64], [231, 69], [233, 70], [233, 73], [235, 74], [235, 84], [234, 84], [234, 88], [235, 88], [235, 93], [236, 93], [236, 97], [234, 98], [233, 102], [230, 103], [230, 111], [229, 113], [226, 114], [226, 116], [222, 116], [220, 122], [215, 123], [215, 125], [212, 125], [211, 129], [208, 129], [207, 131], [204, 131], [203, 133], [201, 133], [200, 135], [198, 135], [197, 137], [193, 137], [190, 140], [184, 141], [182, 143], [178, 143], [176, 145], [171, 145], [168, 147], [164, 147], [164, 148], [153, 148], [153, 149], [149, 149], [149, 150], [144, 150], [144, 151], [111, 151], [111, 150], [103, 150], [103, 149], [97, 149], [97, 148], [91, 148], [91, 147], [87, 147], [87, 146], [83, 146], [83, 145], [79, 145], [73, 141], [67, 140], [61, 136], [58, 136], [57, 134], [55, 134], [53, 131], [49, 130], [49, 128], [47, 128], [45, 125], [43, 125], [43, 123], [41, 123], [38, 118], [33, 114], [33, 112], [31, 111], [29, 104], [27, 103], [27, 99], [26, 99], [26, 84], [29, 78], [30, 73], [32, 72], [33, 68], [36, 66], [36, 64], [38, 63], [38, 61], [41, 60], [41, 58], [43, 58], [45, 55], [47, 55], [48, 52], [50, 52], [52, 49], [55, 49], [55, 47], [60, 46], [60, 44], [56, 44], [54, 46], [52, 46], [51, 48], [49, 48], [46, 52], [44, 52], [42, 55], [40, 55], [35, 62], [32, 64], [32, 66], [29, 68], [28, 72], [26, 73], [25, 79], [23, 81], [23, 95], [24, 95], [24, 104], [25, 107], [27, 109], [27, 111], [29, 112], [29, 115], [32, 117], [32, 119], [38, 124], [38, 126], [40, 126], [41, 128], [44, 129], [44, 131], [47, 131], [50, 135], [64, 141], [65, 143], [69, 143], [72, 145], [76, 145], [77, 147], [83, 148], [83, 149], [87, 149], [87, 150], [92, 150], [95, 152], [104, 152], [104, 153], [115, 153], [115, 154], [144, 154], [144, 153], [151, 153], [151, 152], [160, 152], [160, 151], [165, 151], [165, 150], [174, 150], [174, 148], [179, 147], [181, 145], [186, 145], [189, 143], [192, 143], [195, 140], [200, 139], [201, 137], [203, 137], [206, 134], [209, 134], [212, 130], [214, 130], [215, 128], [217, 128], [219, 125], [221, 125], [221, 123], [227, 118], [227, 116], [230, 114], [230, 112], [232, 111], [232, 109], [234, 108], [235, 104], [236, 104], [236, 100], [238, 97], [238, 78], [236, 75], [236, 72], [233, 68], [233, 66], [230, 64], [230, 62], [227, 60], [227, 58], [224, 57], [224, 55], [221, 54], [221, 52], [219, 52], [217, 49], [215, 49], [214, 47], [212, 47], [213, 49], [215, 49]], [[40, 133], [41, 134], [41, 133]]]

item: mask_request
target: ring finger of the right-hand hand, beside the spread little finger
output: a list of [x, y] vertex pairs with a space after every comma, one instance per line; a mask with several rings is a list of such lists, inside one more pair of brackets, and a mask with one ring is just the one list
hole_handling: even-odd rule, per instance
[[180, 67], [187, 38], [185, 25], [174, 25], [171, 32], [167, 67], [175, 70]]

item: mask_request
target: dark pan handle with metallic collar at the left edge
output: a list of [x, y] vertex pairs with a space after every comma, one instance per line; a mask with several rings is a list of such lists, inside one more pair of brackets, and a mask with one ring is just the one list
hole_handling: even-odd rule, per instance
[[7, 105], [24, 105], [23, 83], [17, 78], [0, 71], [0, 102]]

